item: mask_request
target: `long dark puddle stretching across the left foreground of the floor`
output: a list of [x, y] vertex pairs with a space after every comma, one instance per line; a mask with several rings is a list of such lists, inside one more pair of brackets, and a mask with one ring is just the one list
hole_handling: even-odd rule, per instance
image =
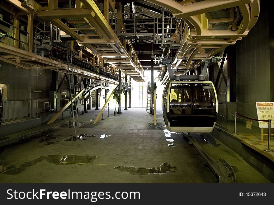
[[25, 171], [28, 167], [36, 165], [38, 162], [43, 160], [48, 161], [49, 163], [53, 163], [55, 165], [85, 165], [94, 162], [97, 156], [89, 156], [89, 155], [48, 155], [48, 156], [41, 156], [33, 161], [25, 162], [21, 164], [19, 167], [16, 165], [8, 166], [8, 170], [2, 174], [5, 175], [17, 175], [21, 172]]

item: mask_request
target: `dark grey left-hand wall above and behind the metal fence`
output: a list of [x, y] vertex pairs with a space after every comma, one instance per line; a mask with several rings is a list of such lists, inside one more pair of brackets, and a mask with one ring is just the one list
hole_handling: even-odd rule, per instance
[[[16, 68], [15, 65], [0, 61], [2, 68], [0, 69], [0, 83], [8, 85], [8, 100], [28, 100], [40, 99], [40, 102], [49, 101], [49, 91], [53, 90], [52, 71], [43, 68]], [[58, 72], [56, 79], [57, 92], [57, 111], [62, 107], [62, 100], [68, 99], [70, 96], [69, 83], [64, 73]], [[81, 82], [81, 78], [77, 78], [77, 82]], [[81, 85], [83, 87], [83, 84]], [[33, 92], [42, 91], [42, 92]], [[66, 92], [66, 93], [63, 93]], [[79, 106], [83, 109], [83, 105]]]

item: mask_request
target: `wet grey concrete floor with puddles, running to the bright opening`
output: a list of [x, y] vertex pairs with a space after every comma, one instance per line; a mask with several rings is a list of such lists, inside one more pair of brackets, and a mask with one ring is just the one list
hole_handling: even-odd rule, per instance
[[82, 140], [71, 141], [74, 128], [62, 127], [62, 122], [72, 121], [69, 117], [42, 126], [53, 128], [50, 133], [2, 147], [0, 165], [9, 169], [0, 174], [0, 182], [218, 183], [182, 134], [165, 135], [161, 109], [156, 117], [163, 129], [154, 130], [148, 129], [153, 116], [146, 116], [145, 108], [122, 109], [120, 116], [113, 111], [109, 108], [107, 117], [106, 109], [104, 120], [95, 126], [91, 120], [99, 110], [78, 115], [79, 122], [84, 122], [79, 134], [87, 136]]

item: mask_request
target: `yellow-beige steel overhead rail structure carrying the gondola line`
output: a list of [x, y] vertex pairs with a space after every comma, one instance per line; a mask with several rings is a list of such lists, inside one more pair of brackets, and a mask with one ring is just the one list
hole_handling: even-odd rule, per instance
[[[179, 74], [186, 74], [185, 72], [190, 72], [227, 46], [248, 35], [260, 11], [259, 0], [132, 2], [127, 5], [135, 5], [134, 9], [131, 9], [134, 11], [128, 14], [123, 13], [125, 5], [120, 2], [104, 2], [97, 5], [93, 0], [76, 0], [75, 4], [58, 0], [28, 0], [23, 3], [18, 0], [2, 1], [1, 8], [9, 10], [7, 5], [11, 4], [19, 11], [17, 13], [27, 15], [27, 18], [22, 19], [28, 23], [28, 51], [19, 49], [18, 40], [15, 40], [12, 49], [3, 49], [7, 45], [0, 42], [0, 51], [3, 53], [0, 60], [25, 69], [39, 67], [66, 73], [67, 66], [63, 63], [32, 53], [33, 47], [37, 48], [36, 45], [33, 46], [33, 37], [35, 41], [43, 33], [49, 37], [47, 29], [40, 30], [42, 32], [35, 30], [34, 21], [49, 21], [53, 26], [50, 30], [55, 29], [53, 33], [56, 36], [45, 40], [48, 46], [61, 43], [61, 39], [77, 41], [78, 46], [84, 46], [87, 53], [96, 55], [101, 61], [110, 64], [114, 70], [122, 70], [136, 82], [145, 82], [143, 62], [141, 63], [139, 58], [142, 51], [135, 49], [132, 40], [152, 32], [152, 39], [151, 36], [146, 36], [144, 40], [158, 44], [163, 54], [172, 55], [171, 66], [178, 68]], [[110, 15], [110, 11], [113, 15]], [[9, 12], [14, 13], [12, 9]], [[166, 14], [168, 16], [165, 16]], [[115, 19], [110, 19], [112, 17]], [[130, 23], [132, 20], [134, 22]], [[18, 22], [19, 19], [15, 19], [14, 24]], [[143, 23], [144, 27], [137, 26], [137, 23]], [[134, 26], [133, 33], [129, 33], [130, 24]], [[152, 26], [153, 29], [146, 26]], [[13, 27], [18, 30], [18, 26]], [[125, 38], [127, 36], [129, 37]], [[18, 36], [15, 36], [15, 39], [17, 38]], [[75, 74], [81, 77], [117, 83], [85, 69], [74, 70]], [[167, 72], [163, 72], [163, 75], [162, 79], [168, 79]]]

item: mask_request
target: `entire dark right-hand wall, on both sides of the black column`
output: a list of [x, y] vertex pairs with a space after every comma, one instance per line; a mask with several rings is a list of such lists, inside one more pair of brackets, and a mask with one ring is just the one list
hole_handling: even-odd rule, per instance
[[[271, 42], [274, 39], [271, 30], [271, 21], [266, 3], [261, 2], [260, 16], [255, 26], [248, 35], [238, 40], [235, 45], [229, 48], [235, 49], [235, 78], [236, 78], [236, 101], [228, 102], [229, 94], [221, 75], [216, 87], [218, 101], [228, 104], [228, 120], [234, 120], [235, 112], [244, 116], [257, 119], [256, 102], [273, 102], [273, 75], [271, 68], [271, 56], [274, 54]], [[274, 47], [273, 47], [274, 48]], [[229, 55], [229, 54], [228, 54]], [[216, 56], [223, 56], [220, 52]], [[231, 57], [231, 56], [228, 56]], [[233, 58], [231, 58], [233, 59]], [[228, 79], [228, 66], [231, 62], [225, 61], [223, 71]], [[229, 70], [229, 71], [228, 71]], [[217, 79], [219, 66], [214, 64], [214, 82]], [[233, 70], [231, 71], [233, 72]], [[230, 82], [232, 84], [233, 82]], [[229, 93], [229, 92], [228, 92]], [[241, 120], [245, 123], [245, 120]], [[259, 126], [258, 122], [253, 122], [254, 126]]]

